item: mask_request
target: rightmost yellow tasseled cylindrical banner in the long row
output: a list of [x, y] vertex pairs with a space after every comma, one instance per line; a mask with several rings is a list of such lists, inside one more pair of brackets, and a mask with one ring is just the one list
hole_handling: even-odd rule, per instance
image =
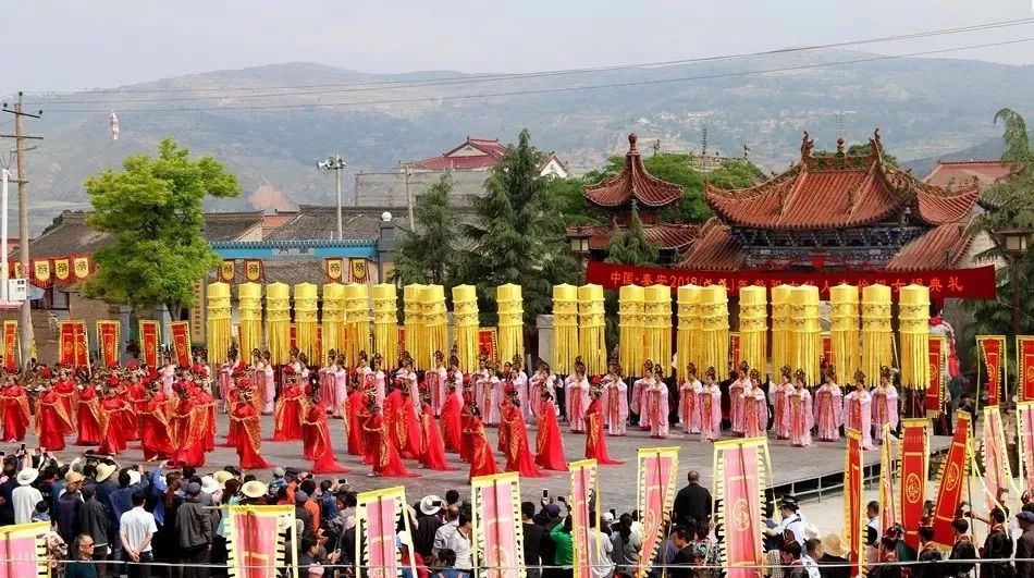
[[925, 390], [930, 385], [930, 288], [901, 287], [898, 297], [901, 333], [901, 386]]

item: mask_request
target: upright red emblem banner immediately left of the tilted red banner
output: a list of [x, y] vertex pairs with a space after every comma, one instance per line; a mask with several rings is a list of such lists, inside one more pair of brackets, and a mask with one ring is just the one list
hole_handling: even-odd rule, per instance
[[[919, 548], [915, 529], [923, 519], [923, 502], [926, 501], [928, 428], [930, 420], [926, 418], [901, 420], [901, 475], [898, 480], [901, 526], [904, 527], [904, 542], [913, 549]], [[881, 532], [885, 530], [886, 527], [881, 528]]]

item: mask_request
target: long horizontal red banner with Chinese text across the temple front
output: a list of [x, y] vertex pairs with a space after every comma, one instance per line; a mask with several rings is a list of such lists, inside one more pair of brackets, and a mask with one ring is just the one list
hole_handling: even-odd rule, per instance
[[865, 287], [873, 284], [888, 285], [895, 295], [908, 284], [930, 287], [931, 298], [994, 299], [997, 296], [995, 267], [968, 269], [943, 269], [898, 273], [893, 271], [816, 271], [800, 273], [790, 271], [696, 271], [664, 269], [660, 267], [635, 267], [589, 261], [587, 283], [617, 290], [623, 285], [670, 285], [674, 291], [682, 285], [724, 285], [729, 297], [739, 293], [739, 287], [761, 285], [774, 287], [787, 285], [814, 285], [820, 297], [828, 298], [829, 287], [841, 283]]

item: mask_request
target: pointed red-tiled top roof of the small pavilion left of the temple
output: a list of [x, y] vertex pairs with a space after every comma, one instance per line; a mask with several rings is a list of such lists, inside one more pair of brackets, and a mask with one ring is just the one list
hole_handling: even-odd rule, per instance
[[642, 206], [664, 207], [682, 196], [682, 186], [652, 176], [636, 148], [636, 133], [628, 135], [628, 153], [621, 172], [586, 187], [586, 198], [601, 207], [620, 207], [635, 198]]

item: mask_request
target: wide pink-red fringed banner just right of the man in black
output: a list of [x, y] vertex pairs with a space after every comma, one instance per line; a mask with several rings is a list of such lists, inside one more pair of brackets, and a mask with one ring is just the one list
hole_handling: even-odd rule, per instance
[[715, 524], [724, 528], [722, 564], [728, 578], [755, 578], [764, 567], [761, 505], [768, 474], [764, 438], [714, 444]]

